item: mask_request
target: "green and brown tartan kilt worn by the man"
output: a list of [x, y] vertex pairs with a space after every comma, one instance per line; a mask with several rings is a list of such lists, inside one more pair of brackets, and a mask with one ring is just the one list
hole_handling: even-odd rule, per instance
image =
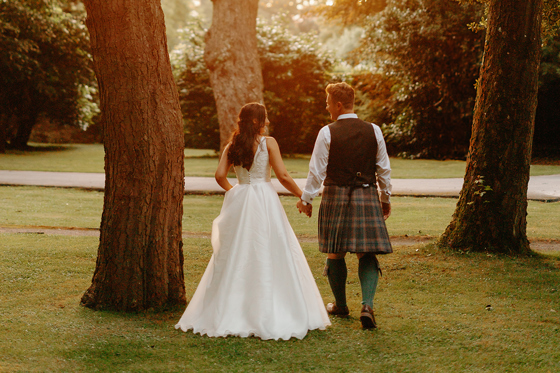
[[393, 252], [377, 188], [329, 185], [319, 208], [319, 250], [323, 253]]

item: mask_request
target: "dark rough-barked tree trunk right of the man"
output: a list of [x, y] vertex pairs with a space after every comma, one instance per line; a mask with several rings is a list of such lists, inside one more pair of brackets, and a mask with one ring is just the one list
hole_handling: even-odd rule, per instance
[[467, 170], [440, 244], [530, 252], [527, 186], [541, 48], [542, 0], [491, 0]]

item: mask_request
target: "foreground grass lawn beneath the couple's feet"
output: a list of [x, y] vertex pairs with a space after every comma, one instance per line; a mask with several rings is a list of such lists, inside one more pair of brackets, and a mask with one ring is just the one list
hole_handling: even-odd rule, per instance
[[[96, 312], [78, 305], [97, 239], [2, 234], [2, 372], [558, 372], [560, 260], [397, 247], [380, 258], [379, 329], [358, 320], [357, 261], [348, 259], [349, 319], [303, 340], [207, 338], [174, 329], [183, 308]], [[324, 256], [303, 250], [325, 302]], [[190, 299], [211, 255], [185, 240]]]

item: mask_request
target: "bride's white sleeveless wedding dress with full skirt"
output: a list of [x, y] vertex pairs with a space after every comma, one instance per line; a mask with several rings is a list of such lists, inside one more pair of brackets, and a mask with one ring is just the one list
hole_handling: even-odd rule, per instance
[[330, 325], [307, 260], [270, 183], [266, 139], [212, 225], [214, 254], [175, 325], [210, 337], [302, 339]]

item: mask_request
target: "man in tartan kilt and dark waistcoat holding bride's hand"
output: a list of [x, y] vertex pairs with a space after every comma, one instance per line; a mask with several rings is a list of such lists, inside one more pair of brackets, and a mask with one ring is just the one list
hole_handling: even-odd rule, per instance
[[377, 327], [373, 297], [381, 272], [375, 254], [393, 252], [385, 227], [391, 215], [391, 166], [381, 129], [354, 114], [354, 89], [337, 83], [329, 84], [326, 92], [327, 111], [335, 122], [323, 127], [317, 136], [297, 207], [300, 213], [311, 216], [311, 203], [324, 182], [319, 250], [327, 254], [325, 272], [335, 298], [327, 305], [327, 312], [340, 317], [350, 313], [344, 257], [356, 253], [362, 288], [360, 321], [364, 329], [373, 329]]

